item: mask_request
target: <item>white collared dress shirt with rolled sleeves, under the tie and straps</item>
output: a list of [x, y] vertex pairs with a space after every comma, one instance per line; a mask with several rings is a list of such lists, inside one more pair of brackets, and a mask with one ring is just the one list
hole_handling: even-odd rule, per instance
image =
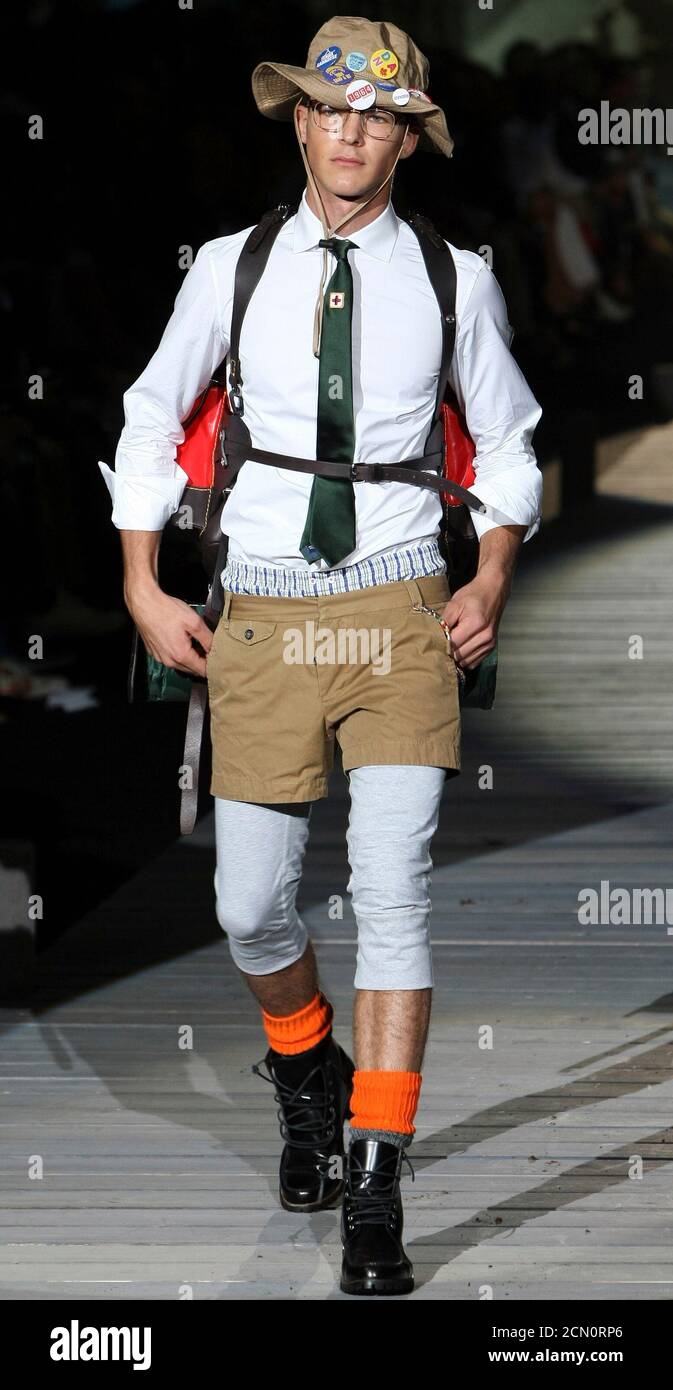
[[[178, 510], [186, 474], [175, 461], [184, 420], [229, 346], [234, 274], [250, 228], [204, 242], [186, 272], [161, 342], [124, 395], [115, 471], [99, 463], [121, 530], [159, 531]], [[245, 420], [253, 446], [316, 457], [318, 359], [313, 314], [323, 238], [306, 192], [281, 227], [241, 334]], [[355, 457], [394, 463], [423, 453], [435, 406], [441, 317], [417, 238], [392, 203], [349, 238], [353, 272]], [[451, 243], [448, 243], [451, 245]], [[478, 498], [524, 539], [540, 527], [542, 474], [531, 448], [542, 414], [509, 346], [502, 291], [474, 252], [456, 261], [456, 348], [451, 384], [477, 453]], [[335, 257], [330, 252], [330, 275]], [[252, 564], [310, 567], [299, 550], [313, 474], [248, 460], [222, 510], [229, 556]], [[353, 564], [437, 535], [437, 492], [405, 482], [355, 482]], [[477, 534], [498, 523], [471, 512]], [[324, 567], [325, 562], [321, 562]], [[316, 566], [313, 566], [316, 569]]]

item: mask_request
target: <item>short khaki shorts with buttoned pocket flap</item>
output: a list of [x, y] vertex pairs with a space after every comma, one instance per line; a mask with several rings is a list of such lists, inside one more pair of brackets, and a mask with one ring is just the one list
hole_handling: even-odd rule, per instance
[[[342, 766], [460, 770], [456, 663], [441, 614], [445, 574], [318, 598], [224, 592], [207, 656], [214, 796], [327, 796]], [[260, 847], [263, 849], [263, 847]]]

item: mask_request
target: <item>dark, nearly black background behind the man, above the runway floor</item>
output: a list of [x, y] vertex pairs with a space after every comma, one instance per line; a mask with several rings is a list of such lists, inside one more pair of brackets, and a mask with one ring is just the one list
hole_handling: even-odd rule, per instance
[[[622, 7], [637, 18], [635, 42], [609, 4], [587, 0], [571, 33], [552, 0], [538, 0], [535, 24], [523, 0], [495, 8], [512, 35], [488, 67], [473, 0], [385, 7], [427, 53], [456, 142], [451, 161], [417, 153], [399, 165], [394, 202], [456, 246], [492, 246], [513, 352], [544, 409], [535, 449], [541, 463], [562, 459], [567, 518], [591, 503], [595, 442], [673, 413], [673, 161], [577, 142], [584, 106], [670, 101], [673, 6]], [[196, 254], [300, 195], [292, 125], [257, 113], [250, 72], [263, 58], [303, 63], [332, 13], [33, 0], [4, 19], [0, 841], [33, 847], [49, 901], [40, 947], [178, 833], [185, 710], [125, 702], [131, 624], [97, 460], [113, 464], [122, 393], [170, 317], [178, 247]], [[480, 15], [484, 35], [495, 18]], [[35, 114], [42, 140], [26, 135]], [[597, 270], [585, 289], [559, 247], [562, 207]], [[28, 399], [35, 374], [42, 400]], [[633, 374], [644, 402], [629, 399]], [[534, 545], [549, 539], [553, 523]], [[196, 600], [206, 581], [179, 541], [163, 543], [161, 580]], [[28, 659], [35, 632], [39, 663]], [[54, 705], [58, 680], [71, 708]]]

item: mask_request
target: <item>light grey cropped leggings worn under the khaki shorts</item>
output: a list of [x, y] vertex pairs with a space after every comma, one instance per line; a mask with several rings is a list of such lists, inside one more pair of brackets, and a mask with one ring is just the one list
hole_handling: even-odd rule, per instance
[[[445, 777], [444, 767], [416, 764], [350, 770], [346, 892], [357, 923], [356, 990], [432, 987], [430, 845]], [[217, 920], [246, 974], [282, 970], [306, 949], [296, 895], [311, 805], [216, 796]]]

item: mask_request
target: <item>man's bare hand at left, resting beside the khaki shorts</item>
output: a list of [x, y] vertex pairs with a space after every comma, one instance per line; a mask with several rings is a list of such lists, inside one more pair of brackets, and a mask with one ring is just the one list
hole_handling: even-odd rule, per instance
[[150, 656], [189, 676], [206, 676], [206, 657], [192, 646], [195, 638], [207, 653], [213, 632], [200, 613], [174, 599], [159, 584], [127, 594], [127, 607]]

